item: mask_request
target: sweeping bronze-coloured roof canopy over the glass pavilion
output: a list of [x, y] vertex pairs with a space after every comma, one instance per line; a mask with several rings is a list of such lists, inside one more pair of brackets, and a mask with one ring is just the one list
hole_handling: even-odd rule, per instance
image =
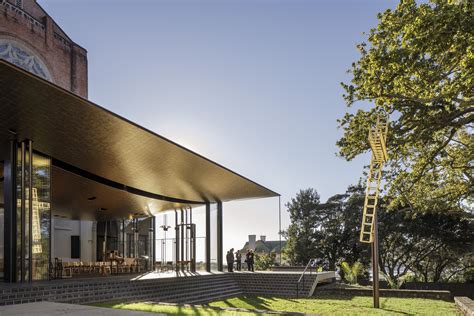
[[183, 146], [0, 61], [0, 141], [31, 139], [53, 165], [104, 186], [180, 204], [278, 196]]

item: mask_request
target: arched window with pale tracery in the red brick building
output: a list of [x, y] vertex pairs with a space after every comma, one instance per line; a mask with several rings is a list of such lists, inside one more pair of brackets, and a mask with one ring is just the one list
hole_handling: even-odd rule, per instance
[[37, 76], [52, 81], [51, 74], [43, 61], [24, 45], [0, 38], [0, 59], [11, 62]]

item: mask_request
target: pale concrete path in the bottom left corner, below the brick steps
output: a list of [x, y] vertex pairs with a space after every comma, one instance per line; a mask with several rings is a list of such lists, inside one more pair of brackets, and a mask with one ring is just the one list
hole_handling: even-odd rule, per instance
[[87, 316], [146, 316], [164, 315], [157, 313], [135, 312], [121, 309], [73, 305], [53, 302], [37, 302], [18, 305], [0, 306], [0, 316], [56, 316], [56, 315], [87, 315]]

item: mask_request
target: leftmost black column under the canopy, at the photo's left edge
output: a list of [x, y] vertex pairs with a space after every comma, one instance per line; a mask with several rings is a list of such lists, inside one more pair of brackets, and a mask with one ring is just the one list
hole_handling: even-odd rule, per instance
[[16, 165], [18, 143], [10, 141], [8, 146], [8, 160], [4, 163], [4, 198], [5, 198], [5, 229], [4, 229], [4, 271], [5, 282], [16, 282]]

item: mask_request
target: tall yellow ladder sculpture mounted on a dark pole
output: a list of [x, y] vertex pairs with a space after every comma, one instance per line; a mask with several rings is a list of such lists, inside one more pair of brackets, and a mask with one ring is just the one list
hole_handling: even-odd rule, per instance
[[377, 123], [369, 130], [369, 143], [372, 149], [370, 169], [367, 178], [364, 213], [360, 230], [360, 241], [372, 243], [374, 240], [374, 219], [380, 192], [383, 163], [387, 161], [387, 132], [388, 117], [384, 114], [377, 116]]

